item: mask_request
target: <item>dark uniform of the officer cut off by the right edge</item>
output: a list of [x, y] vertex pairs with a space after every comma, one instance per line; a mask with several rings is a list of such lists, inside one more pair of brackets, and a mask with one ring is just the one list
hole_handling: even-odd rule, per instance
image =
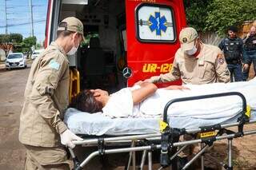
[[[245, 64], [254, 64], [254, 73], [256, 73], [256, 34], [245, 39], [243, 57]], [[243, 72], [244, 81], [248, 78], [249, 70]]]

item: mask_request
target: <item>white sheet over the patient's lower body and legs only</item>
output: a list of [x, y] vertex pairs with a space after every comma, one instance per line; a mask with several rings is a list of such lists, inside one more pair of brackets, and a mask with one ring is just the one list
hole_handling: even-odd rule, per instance
[[[140, 112], [144, 115], [162, 115], [166, 103], [174, 98], [193, 97], [214, 93], [240, 92], [247, 104], [256, 109], [256, 78], [251, 81], [235, 83], [215, 83], [208, 85], [186, 85], [190, 90], [158, 89], [154, 96], [142, 101]], [[197, 101], [184, 101], [171, 105], [170, 117], [193, 117], [198, 119], [217, 119], [234, 117], [241, 112], [242, 100], [237, 96], [216, 97]]]

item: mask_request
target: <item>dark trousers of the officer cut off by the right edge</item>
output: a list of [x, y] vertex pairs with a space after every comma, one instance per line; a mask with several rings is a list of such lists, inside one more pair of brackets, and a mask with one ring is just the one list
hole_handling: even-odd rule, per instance
[[244, 51], [243, 57], [245, 58], [246, 63], [249, 64], [249, 69], [243, 70], [242, 72], [242, 79], [243, 81], [246, 81], [249, 77], [251, 63], [254, 64], [254, 73], [256, 73], [256, 50]]

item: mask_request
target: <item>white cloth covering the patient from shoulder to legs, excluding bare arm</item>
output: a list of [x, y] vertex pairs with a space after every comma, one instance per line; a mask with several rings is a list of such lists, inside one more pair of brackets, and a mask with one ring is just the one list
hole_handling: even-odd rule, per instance
[[[134, 105], [130, 88], [114, 93], [102, 109], [107, 117], [161, 117], [166, 103], [174, 98], [193, 97], [214, 93], [240, 92], [248, 104], [256, 107], [256, 78], [247, 82], [216, 83], [208, 85], [186, 85], [190, 90], [158, 89], [153, 96], [146, 98], [139, 105]], [[199, 101], [184, 101], [170, 106], [168, 113], [171, 117], [193, 117], [214, 119], [234, 117], [241, 111], [240, 97], [217, 97]]]

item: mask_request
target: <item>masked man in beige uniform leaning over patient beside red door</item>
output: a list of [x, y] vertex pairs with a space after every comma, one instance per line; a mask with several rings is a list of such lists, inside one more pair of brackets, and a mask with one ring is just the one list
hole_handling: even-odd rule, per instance
[[182, 78], [183, 85], [230, 81], [230, 72], [222, 51], [214, 45], [203, 44], [194, 28], [182, 29], [179, 41], [181, 48], [175, 53], [170, 73], [150, 77], [145, 81], [168, 82]]

